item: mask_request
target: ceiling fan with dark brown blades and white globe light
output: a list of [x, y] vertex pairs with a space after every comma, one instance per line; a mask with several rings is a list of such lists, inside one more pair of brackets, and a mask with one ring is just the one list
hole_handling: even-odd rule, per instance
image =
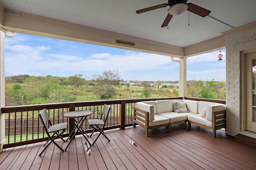
[[161, 4], [161, 5], [156, 5], [149, 8], [144, 8], [141, 10], [137, 10], [136, 13], [140, 14], [142, 12], [147, 12], [151, 10], [156, 10], [158, 8], [164, 8], [166, 6], [170, 6], [168, 15], [166, 16], [161, 27], [166, 27], [170, 22], [170, 20], [172, 19], [172, 16], [180, 15], [184, 13], [186, 10], [193, 12], [194, 14], [197, 14], [201, 17], [205, 17], [210, 14], [210, 11], [206, 10], [205, 8], [202, 8], [192, 3], [186, 4], [187, 1], [188, 0], [168, 0], [168, 4]]

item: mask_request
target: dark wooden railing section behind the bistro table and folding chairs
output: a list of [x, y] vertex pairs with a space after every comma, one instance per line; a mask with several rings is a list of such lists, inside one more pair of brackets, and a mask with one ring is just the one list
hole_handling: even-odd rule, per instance
[[[42, 123], [38, 118], [38, 113], [44, 108], [46, 108], [52, 124], [68, 121], [68, 129], [63, 135], [63, 137], [68, 137], [69, 132], [74, 129], [74, 125], [72, 121], [69, 122], [69, 120], [64, 117], [64, 113], [67, 111], [90, 110], [94, 114], [88, 117], [88, 119], [97, 119], [100, 116], [104, 104], [107, 104], [111, 107], [111, 115], [108, 118], [106, 129], [124, 129], [125, 127], [133, 125], [133, 107], [136, 102], [166, 99], [182, 99], [182, 97], [101, 100], [2, 107], [2, 113], [6, 115], [6, 144], [4, 148], [46, 141], [48, 137], [46, 137]], [[92, 132], [87, 125], [87, 121], [84, 122], [83, 129], [86, 133]]]

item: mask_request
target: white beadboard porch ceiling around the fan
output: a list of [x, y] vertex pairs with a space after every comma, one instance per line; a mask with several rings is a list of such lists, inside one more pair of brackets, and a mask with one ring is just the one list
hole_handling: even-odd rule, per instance
[[186, 11], [173, 16], [169, 28], [161, 27], [169, 6], [136, 14], [136, 10], [164, 3], [168, 0], [0, 0], [5, 9], [180, 47], [218, 37], [224, 31], [256, 21], [256, 0], [188, 0], [187, 3], [206, 8], [211, 13], [202, 18]]

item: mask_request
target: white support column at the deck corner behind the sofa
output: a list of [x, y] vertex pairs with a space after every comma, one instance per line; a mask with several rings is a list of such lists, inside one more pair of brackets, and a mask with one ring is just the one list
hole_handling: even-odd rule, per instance
[[180, 88], [179, 97], [187, 96], [187, 58], [180, 58]]

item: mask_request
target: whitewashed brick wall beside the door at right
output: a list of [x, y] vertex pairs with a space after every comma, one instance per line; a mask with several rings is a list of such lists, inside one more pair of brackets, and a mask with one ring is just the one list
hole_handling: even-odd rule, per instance
[[256, 49], [256, 29], [226, 37], [226, 134], [240, 132], [240, 52]]

